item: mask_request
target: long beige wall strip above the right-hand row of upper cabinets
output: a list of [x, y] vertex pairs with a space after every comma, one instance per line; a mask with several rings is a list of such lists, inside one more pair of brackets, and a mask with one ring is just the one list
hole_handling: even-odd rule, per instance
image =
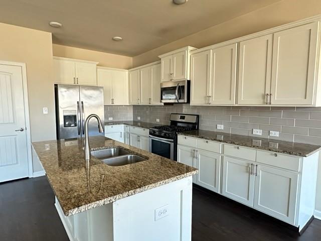
[[203, 48], [318, 14], [321, 14], [319, 0], [283, 0], [135, 56], [133, 67], [157, 61], [158, 55], [188, 45]]

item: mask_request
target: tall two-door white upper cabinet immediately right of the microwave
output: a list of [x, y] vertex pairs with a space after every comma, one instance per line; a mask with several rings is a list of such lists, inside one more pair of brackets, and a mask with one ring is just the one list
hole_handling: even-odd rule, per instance
[[191, 104], [235, 104], [237, 44], [191, 55]]

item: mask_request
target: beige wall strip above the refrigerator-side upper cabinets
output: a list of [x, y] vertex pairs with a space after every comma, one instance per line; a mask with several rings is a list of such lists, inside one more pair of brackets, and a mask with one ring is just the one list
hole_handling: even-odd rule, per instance
[[53, 55], [58, 57], [82, 59], [99, 62], [99, 66], [130, 69], [132, 58], [117, 54], [103, 53], [88, 49], [74, 48], [64, 45], [53, 44]]

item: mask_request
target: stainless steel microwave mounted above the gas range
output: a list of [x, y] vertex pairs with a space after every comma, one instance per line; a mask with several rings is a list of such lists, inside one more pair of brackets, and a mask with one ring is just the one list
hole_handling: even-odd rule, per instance
[[190, 80], [162, 82], [161, 101], [163, 103], [189, 103]]

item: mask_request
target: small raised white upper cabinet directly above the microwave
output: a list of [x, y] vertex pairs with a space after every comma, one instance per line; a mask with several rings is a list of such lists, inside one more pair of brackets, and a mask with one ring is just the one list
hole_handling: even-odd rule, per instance
[[161, 58], [161, 82], [190, 79], [190, 52], [193, 47], [185, 47], [159, 55]]

